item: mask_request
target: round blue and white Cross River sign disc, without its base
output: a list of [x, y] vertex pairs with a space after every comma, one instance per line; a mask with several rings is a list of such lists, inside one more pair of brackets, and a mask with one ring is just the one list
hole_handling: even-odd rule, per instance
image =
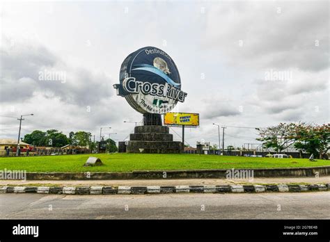
[[120, 83], [113, 85], [117, 95], [140, 113], [167, 113], [186, 92], [174, 61], [162, 49], [143, 47], [129, 54], [120, 67]]

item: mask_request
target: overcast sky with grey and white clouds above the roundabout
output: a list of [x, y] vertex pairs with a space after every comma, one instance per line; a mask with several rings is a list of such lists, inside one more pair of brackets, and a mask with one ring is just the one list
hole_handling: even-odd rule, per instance
[[[111, 126], [124, 140], [140, 121], [112, 88], [125, 57], [145, 46], [178, 66], [186, 102], [201, 114], [187, 143], [256, 142], [278, 122], [329, 122], [327, 1], [1, 2], [0, 136], [40, 129], [91, 131]], [[54, 74], [52, 80], [41, 74]], [[233, 127], [230, 127], [233, 126]], [[181, 129], [173, 128], [175, 140]], [[109, 134], [109, 130], [104, 130]]]

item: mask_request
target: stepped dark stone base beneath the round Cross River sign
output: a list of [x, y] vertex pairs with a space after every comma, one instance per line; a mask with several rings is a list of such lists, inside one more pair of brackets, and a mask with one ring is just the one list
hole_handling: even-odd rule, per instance
[[160, 125], [136, 126], [125, 142], [127, 153], [179, 154], [183, 150], [182, 142], [173, 141], [169, 128]]

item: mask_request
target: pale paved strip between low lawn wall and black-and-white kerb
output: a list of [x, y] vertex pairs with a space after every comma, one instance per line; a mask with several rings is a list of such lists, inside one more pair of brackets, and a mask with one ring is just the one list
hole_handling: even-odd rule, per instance
[[244, 179], [148, 179], [148, 180], [0, 180], [0, 186], [6, 185], [57, 185], [57, 186], [193, 186], [193, 185], [228, 185], [228, 184], [329, 184], [330, 176], [327, 177], [276, 177]]

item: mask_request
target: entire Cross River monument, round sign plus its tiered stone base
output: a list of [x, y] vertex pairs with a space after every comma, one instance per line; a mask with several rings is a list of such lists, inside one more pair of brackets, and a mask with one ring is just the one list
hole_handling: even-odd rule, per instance
[[120, 152], [180, 153], [183, 144], [173, 141], [161, 115], [184, 102], [181, 79], [174, 61], [156, 47], [143, 47], [129, 54], [120, 67], [117, 95], [143, 114], [143, 125], [134, 129], [129, 140], [119, 142]]

